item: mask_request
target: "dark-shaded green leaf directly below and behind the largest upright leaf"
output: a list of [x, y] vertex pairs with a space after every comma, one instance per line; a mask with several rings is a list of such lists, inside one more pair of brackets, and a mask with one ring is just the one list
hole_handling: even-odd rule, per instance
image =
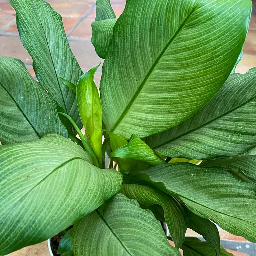
[[230, 75], [196, 115], [146, 142], [159, 154], [210, 159], [242, 154], [256, 147], [256, 68]]

